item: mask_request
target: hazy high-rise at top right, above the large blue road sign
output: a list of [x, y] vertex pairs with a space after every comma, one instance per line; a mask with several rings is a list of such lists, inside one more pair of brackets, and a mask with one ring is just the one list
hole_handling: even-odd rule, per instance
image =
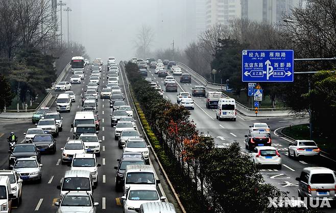
[[242, 0], [242, 18], [253, 21], [279, 23], [283, 15], [291, 15], [294, 7], [301, 7], [302, 0]]

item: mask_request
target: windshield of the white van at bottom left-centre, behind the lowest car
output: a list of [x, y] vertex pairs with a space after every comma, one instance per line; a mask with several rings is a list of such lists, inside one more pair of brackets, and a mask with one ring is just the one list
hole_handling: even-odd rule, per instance
[[90, 179], [84, 177], [64, 178], [62, 191], [91, 191]]

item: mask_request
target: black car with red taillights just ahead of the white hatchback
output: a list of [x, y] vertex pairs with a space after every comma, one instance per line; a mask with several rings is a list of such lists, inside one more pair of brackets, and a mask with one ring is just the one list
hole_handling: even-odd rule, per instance
[[270, 135], [266, 132], [251, 132], [249, 135], [245, 135], [245, 148], [252, 150], [254, 147], [271, 146], [272, 141]]

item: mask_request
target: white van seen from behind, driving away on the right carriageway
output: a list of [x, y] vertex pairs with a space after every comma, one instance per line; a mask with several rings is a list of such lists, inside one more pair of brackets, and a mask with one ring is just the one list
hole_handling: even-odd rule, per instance
[[236, 102], [231, 98], [223, 98], [218, 101], [216, 110], [216, 118], [222, 121], [222, 119], [236, 120]]

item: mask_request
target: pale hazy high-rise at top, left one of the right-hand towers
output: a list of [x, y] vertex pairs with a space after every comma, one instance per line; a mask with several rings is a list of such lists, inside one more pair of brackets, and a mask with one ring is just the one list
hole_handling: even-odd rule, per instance
[[208, 0], [206, 2], [206, 28], [213, 25], [229, 25], [241, 17], [241, 0]]

